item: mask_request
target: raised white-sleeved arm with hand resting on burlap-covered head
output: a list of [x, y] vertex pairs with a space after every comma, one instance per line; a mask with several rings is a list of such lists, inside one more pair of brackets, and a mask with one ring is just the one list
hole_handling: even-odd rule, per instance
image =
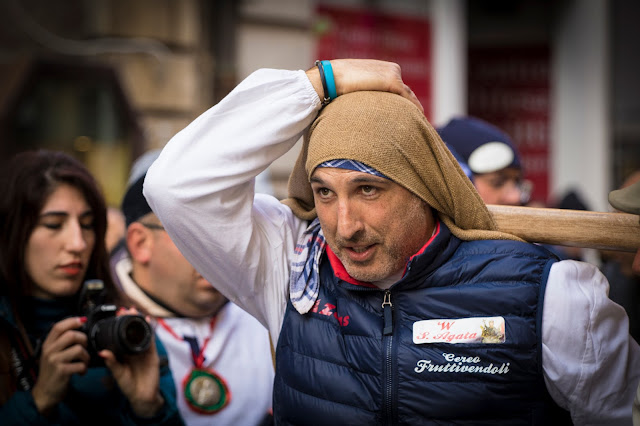
[[[375, 60], [331, 61], [338, 95], [392, 91], [418, 107], [400, 67]], [[288, 297], [289, 261], [306, 224], [253, 180], [291, 149], [324, 96], [317, 68], [259, 70], [164, 148], [144, 194], [187, 259], [270, 330]], [[275, 306], [275, 308], [274, 308]]]

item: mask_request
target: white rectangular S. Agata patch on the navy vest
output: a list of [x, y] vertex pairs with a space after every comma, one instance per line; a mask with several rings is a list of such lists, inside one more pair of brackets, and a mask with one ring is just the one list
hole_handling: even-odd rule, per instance
[[413, 323], [413, 343], [504, 343], [503, 317], [433, 319]]

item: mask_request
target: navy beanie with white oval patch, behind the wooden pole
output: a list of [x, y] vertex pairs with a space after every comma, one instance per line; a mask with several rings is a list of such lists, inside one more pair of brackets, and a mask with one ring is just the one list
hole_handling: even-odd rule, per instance
[[473, 173], [490, 173], [505, 167], [522, 168], [518, 150], [509, 136], [484, 120], [458, 117], [436, 130]]

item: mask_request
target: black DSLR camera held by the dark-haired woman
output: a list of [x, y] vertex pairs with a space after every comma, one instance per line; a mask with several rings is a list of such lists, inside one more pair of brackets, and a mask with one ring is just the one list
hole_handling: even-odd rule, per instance
[[144, 352], [151, 345], [151, 327], [142, 315], [116, 316], [117, 307], [104, 303], [106, 291], [102, 280], [84, 282], [79, 311], [87, 317], [82, 331], [88, 337], [90, 365], [103, 364], [98, 352], [109, 349], [119, 361], [125, 355]]

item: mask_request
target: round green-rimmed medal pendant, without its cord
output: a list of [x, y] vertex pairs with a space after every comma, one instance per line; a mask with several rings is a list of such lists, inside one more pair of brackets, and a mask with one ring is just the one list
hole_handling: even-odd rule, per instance
[[231, 394], [224, 379], [208, 368], [192, 369], [182, 381], [189, 408], [200, 414], [214, 414], [227, 406]]

